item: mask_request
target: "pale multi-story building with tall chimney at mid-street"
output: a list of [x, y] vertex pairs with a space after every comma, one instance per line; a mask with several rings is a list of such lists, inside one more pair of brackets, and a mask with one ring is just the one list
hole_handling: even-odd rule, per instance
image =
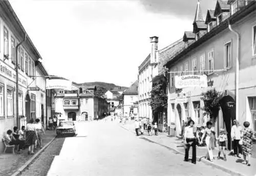
[[158, 37], [150, 37], [151, 53], [139, 66], [138, 93], [139, 93], [139, 117], [152, 120], [152, 109], [149, 105], [152, 78], [158, 75]]

